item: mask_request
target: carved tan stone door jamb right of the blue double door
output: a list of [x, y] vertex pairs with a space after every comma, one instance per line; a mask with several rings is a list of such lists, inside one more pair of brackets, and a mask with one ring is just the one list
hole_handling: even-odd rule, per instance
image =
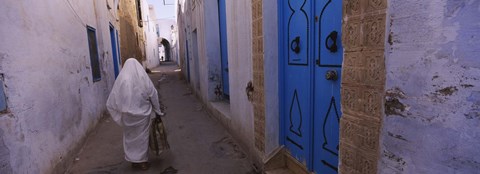
[[377, 173], [386, 7], [386, 0], [344, 1], [340, 173]]

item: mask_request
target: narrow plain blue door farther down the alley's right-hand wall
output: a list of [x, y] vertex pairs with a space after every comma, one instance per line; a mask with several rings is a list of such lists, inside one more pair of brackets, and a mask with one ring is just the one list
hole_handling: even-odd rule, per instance
[[218, 20], [220, 25], [220, 51], [222, 60], [223, 94], [230, 95], [228, 76], [227, 13], [225, 0], [218, 0]]

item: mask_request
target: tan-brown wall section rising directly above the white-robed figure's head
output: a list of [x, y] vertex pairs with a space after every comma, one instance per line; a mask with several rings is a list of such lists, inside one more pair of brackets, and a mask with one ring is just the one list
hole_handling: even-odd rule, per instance
[[[142, 11], [142, 14], [144, 13], [148, 13], [148, 10]], [[137, 0], [120, 0], [118, 15], [122, 65], [128, 58], [136, 58], [139, 62], [145, 61], [145, 39], [143, 28], [138, 24]]]

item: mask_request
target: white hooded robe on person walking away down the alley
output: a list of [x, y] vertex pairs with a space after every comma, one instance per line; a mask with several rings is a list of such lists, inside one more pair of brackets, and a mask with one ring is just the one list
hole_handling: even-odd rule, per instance
[[163, 113], [157, 90], [136, 59], [129, 58], [125, 62], [108, 96], [107, 109], [113, 120], [123, 127], [125, 159], [146, 162], [149, 127], [154, 118], [152, 111]]

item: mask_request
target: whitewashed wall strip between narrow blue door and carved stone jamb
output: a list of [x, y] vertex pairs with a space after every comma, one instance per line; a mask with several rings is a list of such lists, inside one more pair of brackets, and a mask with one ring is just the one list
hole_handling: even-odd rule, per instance
[[232, 130], [254, 154], [253, 105], [245, 88], [253, 79], [251, 1], [227, 1], [228, 63]]

